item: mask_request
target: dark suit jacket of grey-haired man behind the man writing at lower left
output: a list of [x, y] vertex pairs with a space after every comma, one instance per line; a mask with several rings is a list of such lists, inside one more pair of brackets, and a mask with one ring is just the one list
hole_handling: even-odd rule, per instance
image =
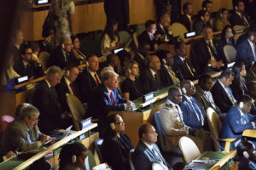
[[57, 99], [57, 94], [53, 94], [45, 80], [38, 84], [38, 88], [32, 95], [32, 105], [40, 111], [38, 127], [42, 132], [49, 133], [61, 127], [63, 109]]

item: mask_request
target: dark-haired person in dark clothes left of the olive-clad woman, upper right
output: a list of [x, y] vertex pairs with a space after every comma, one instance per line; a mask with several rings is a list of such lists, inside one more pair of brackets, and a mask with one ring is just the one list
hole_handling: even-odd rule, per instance
[[195, 22], [194, 30], [196, 35], [200, 35], [205, 26], [211, 26], [210, 18], [211, 14], [209, 14], [206, 10], [201, 10], [198, 12], [198, 20]]

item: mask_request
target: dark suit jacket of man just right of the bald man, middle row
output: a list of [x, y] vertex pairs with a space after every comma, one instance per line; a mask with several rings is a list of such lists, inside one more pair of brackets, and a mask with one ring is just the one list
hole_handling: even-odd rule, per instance
[[197, 73], [194, 69], [194, 66], [191, 64], [189, 59], [186, 59], [186, 60], [193, 75], [189, 71], [189, 68], [187, 67], [187, 65], [184, 64], [183, 60], [180, 59], [180, 57], [177, 54], [174, 56], [173, 69], [175, 71], [179, 71], [182, 74], [183, 79], [195, 80], [197, 77]]

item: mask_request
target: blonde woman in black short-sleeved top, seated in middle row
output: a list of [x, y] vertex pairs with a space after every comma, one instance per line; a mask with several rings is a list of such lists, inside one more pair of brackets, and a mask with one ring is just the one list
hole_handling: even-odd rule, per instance
[[131, 60], [130, 64], [125, 69], [125, 80], [121, 83], [121, 91], [125, 99], [138, 99], [143, 94], [138, 90], [139, 82], [137, 76], [139, 74], [139, 67], [136, 61]]

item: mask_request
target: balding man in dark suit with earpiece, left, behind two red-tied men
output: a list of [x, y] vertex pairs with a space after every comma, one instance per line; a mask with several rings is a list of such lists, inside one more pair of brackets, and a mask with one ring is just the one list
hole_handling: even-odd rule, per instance
[[67, 67], [67, 65], [74, 64], [75, 65], [75, 57], [71, 53], [73, 47], [73, 43], [70, 37], [66, 37], [63, 44], [56, 47], [53, 50], [53, 53], [50, 54], [48, 65], [57, 65], [60, 66], [61, 69]]

